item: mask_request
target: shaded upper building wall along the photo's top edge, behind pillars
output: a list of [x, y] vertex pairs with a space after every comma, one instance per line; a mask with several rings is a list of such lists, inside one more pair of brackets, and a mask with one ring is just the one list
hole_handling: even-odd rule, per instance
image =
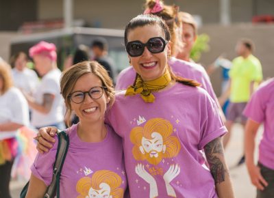
[[[0, 31], [17, 30], [24, 22], [63, 18], [64, 0], [0, 0]], [[199, 15], [203, 24], [219, 23], [221, 0], [165, 0], [180, 10]], [[74, 16], [88, 26], [123, 28], [142, 13], [145, 0], [74, 0]], [[230, 0], [232, 23], [251, 22], [252, 16], [274, 15], [273, 0]]]

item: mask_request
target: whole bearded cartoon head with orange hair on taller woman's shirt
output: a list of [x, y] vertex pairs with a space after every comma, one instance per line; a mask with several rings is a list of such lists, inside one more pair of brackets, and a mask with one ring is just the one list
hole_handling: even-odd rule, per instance
[[177, 156], [181, 145], [172, 133], [171, 122], [162, 118], [150, 119], [144, 127], [133, 128], [130, 132], [130, 141], [134, 144], [132, 148], [134, 158], [147, 160], [151, 165], [158, 165], [163, 158]]

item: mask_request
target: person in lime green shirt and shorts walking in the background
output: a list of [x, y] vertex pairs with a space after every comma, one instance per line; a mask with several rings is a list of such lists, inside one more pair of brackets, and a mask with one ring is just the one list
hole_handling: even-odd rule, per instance
[[[236, 53], [239, 56], [232, 61], [227, 91], [219, 98], [221, 105], [228, 97], [230, 100], [229, 107], [227, 107], [227, 122], [225, 123], [228, 133], [223, 137], [224, 147], [229, 142], [230, 131], [236, 119], [240, 119], [242, 126], [245, 127], [247, 117], [242, 115], [242, 111], [245, 109], [253, 90], [262, 81], [262, 65], [259, 59], [252, 55], [253, 48], [254, 45], [251, 40], [242, 39], [238, 41]], [[242, 162], [245, 162], [244, 156], [240, 159], [238, 165]]]

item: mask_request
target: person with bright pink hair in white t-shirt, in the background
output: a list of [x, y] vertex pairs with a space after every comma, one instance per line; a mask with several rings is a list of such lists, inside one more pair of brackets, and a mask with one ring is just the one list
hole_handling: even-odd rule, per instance
[[64, 101], [60, 94], [61, 71], [56, 65], [55, 44], [41, 41], [29, 49], [38, 74], [42, 76], [34, 95], [24, 93], [29, 107], [32, 108], [32, 126], [58, 126], [64, 129]]

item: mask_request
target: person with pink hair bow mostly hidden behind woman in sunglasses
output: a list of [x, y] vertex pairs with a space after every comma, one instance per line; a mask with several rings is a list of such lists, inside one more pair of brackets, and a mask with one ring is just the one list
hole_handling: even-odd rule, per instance
[[[169, 66], [171, 66], [173, 72], [178, 76], [194, 79], [201, 83], [201, 87], [208, 91], [208, 94], [210, 94], [215, 102], [218, 102], [206, 70], [196, 63], [190, 63], [175, 58], [177, 53], [182, 53], [182, 51], [184, 51], [181, 32], [184, 27], [182, 27], [183, 23], [179, 18], [178, 12], [179, 9], [177, 6], [164, 5], [160, 0], [147, 0], [144, 14], [160, 16], [166, 22], [166, 25], [168, 25], [169, 31], [171, 32], [171, 59], [169, 59]], [[127, 87], [134, 82], [135, 76], [136, 71], [133, 67], [125, 68], [117, 77], [115, 89], [127, 89]]]

